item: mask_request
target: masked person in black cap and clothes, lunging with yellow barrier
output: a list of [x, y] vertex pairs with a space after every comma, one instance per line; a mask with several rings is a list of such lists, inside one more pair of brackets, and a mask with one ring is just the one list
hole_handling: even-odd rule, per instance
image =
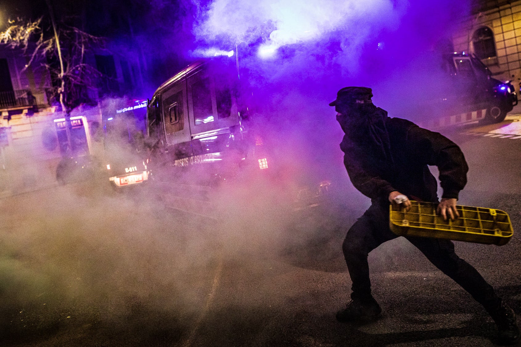
[[[437, 212], [444, 219], [458, 217], [456, 200], [466, 184], [468, 166], [460, 148], [443, 135], [400, 118], [371, 101], [370, 88], [340, 89], [334, 106], [345, 135], [340, 144], [351, 182], [371, 199], [369, 209], [349, 229], [343, 253], [351, 276], [351, 302], [337, 313], [340, 322], [371, 322], [381, 313], [371, 295], [368, 253], [398, 236], [389, 228], [389, 203], [408, 210], [409, 199], [438, 202], [436, 178], [428, 165], [439, 169], [443, 195]], [[450, 240], [406, 239], [444, 274], [482, 304], [498, 326], [502, 343], [519, 340], [514, 311], [499, 298], [476, 269], [454, 252]]]

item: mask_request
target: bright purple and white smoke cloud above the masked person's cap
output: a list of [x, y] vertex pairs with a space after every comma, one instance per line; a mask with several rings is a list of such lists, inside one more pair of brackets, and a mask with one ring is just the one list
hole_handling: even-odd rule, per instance
[[396, 104], [396, 92], [390, 99], [382, 94], [409, 95], [426, 86], [422, 80], [435, 63], [431, 56], [469, 14], [468, 1], [448, 0], [193, 5], [192, 33], [199, 50], [238, 46], [242, 68], [255, 82], [271, 84], [275, 92], [312, 93], [324, 103], [342, 86], [368, 85], [381, 105], [390, 106]]

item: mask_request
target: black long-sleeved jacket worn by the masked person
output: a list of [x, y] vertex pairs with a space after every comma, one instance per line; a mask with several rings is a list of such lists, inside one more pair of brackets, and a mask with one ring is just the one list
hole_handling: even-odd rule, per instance
[[427, 165], [440, 172], [442, 198], [458, 198], [467, 183], [468, 166], [463, 152], [440, 133], [421, 128], [413, 122], [389, 118], [383, 123], [389, 134], [391, 159], [371, 141], [356, 141], [345, 135], [340, 148], [344, 164], [356, 189], [373, 203], [388, 202], [391, 191], [398, 190], [412, 200], [438, 202], [438, 184]]

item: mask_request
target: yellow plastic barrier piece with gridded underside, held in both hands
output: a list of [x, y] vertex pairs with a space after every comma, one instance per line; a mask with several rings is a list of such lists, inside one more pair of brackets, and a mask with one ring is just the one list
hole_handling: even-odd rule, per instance
[[401, 207], [389, 207], [389, 227], [400, 236], [421, 236], [505, 245], [514, 231], [508, 214], [501, 210], [482, 207], [460, 206], [460, 217], [444, 221], [436, 214], [437, 203], [411, 201], [408, 212]]

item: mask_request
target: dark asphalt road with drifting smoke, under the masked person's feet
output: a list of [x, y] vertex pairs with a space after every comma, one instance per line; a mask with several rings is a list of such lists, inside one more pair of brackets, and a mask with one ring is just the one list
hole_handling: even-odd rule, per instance
[[[515, 230], [505, 246], [456, 242], [456, 252], [521, 315], [520, 120], [446, 135], [470, 168], [458, 203], [504, 210]], [[341, 242], [361, 197], [296, 223], [266, 191], [217, 222], [141, 194], [76, 185], [1, 200], [3, 345], [494, 345], [482, 307], [403, 238], [369, 255], [382, 318], [335, 320], [351, 286]]]

